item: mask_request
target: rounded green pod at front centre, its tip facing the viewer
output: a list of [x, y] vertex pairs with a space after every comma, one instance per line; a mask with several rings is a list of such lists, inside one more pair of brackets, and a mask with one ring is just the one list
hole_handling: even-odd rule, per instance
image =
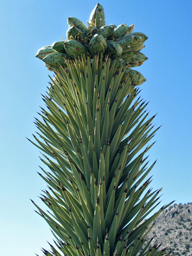
[[105, 53], [107, 49], [107, 42], [101, 34], [95, 34], [89, 42], [89, 52], [93, 57], [97, 53]]

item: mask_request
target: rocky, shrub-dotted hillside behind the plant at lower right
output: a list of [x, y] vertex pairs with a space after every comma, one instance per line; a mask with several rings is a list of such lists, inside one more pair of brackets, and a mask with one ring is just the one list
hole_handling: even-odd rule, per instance
[[161, 242], [172, 255], [192, 256], [192, 203], [173, 204], [164, 210], [149, 233], [153, 236], [152, 245]]

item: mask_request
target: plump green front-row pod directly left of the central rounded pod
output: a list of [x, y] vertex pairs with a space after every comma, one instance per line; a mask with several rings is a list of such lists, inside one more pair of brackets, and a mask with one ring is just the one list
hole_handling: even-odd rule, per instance
[[64, 49], [68, 56], [73, 60], [84, 53], [87, 55], [86, 47], [74, 39], [64, 42]]

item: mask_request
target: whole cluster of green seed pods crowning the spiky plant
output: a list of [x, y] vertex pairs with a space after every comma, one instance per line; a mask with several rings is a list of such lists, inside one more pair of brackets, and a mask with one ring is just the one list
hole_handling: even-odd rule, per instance
[[102, 5], [96, 4], [91, 13], [88, 27], [77, 18], [69, 17], [69, 29], [66, 41], [57, 41], [52, 45], [40, 48], [36, 56], [45, 63], [50, 71], [58, 71], [59, 64], [66, 67], [66, 60], [98, 55], [117, 59], [119, 66], [125, 65], [125, 73], [136, 80], [134, 85], [145, 82], [145, 78], [138, 71], [130, 69], [144, 63], [148, 58], [140, 52], [145, 46], [147, 36], [141, 32], [133, 32], [134, 25], [114, 24], [105, 25], [105, 15]]

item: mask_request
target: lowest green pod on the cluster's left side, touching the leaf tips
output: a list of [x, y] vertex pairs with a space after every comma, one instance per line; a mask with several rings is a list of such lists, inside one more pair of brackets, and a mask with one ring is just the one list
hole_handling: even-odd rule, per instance
[[65, 64], [65, 59], [68, 59], [67, 54], [65, 53], [50, 53], [45, 56], [42, 61], [50, 67], [58, 67], [58, 63], [63, 65]]

